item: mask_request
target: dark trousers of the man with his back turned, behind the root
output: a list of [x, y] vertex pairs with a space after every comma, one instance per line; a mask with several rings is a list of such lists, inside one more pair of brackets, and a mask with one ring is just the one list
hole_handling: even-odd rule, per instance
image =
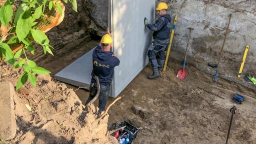
[[[105, 111], [106, 102], [107, 102], [107, 98], [109, 95], [110, 84], [108, 84], [108, 85], [99, 84], [99, 85], [100, 85], [100, 93], [98, 95], [98, 108], [102, 111]], [[89, 97], [88, 97], [85, 105], [90, 102], [90, 100], [96, 95], [96, 93], [97, 93], [97, 84], [91, 82], [90, 89], [89, 89]]]

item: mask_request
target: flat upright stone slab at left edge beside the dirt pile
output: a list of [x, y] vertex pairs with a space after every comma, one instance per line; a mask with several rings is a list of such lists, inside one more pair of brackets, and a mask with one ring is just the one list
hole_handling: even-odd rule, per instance
[[12, 139], [16, 134], [14, 95], [14, 88], [10, 82], [0, 83], [0, 138], [5, 140]]

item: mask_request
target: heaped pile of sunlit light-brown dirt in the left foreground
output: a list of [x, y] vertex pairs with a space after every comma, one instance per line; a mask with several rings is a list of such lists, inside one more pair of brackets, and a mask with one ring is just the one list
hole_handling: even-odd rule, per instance
[[[15, 85], [22, 72], [0, 62], [0, 82]], [[37, 75], [36, 80], [35, 88], [27, 82], [13, 97], [17, 132], [6, 143], [118, 143], [113, 136], [106, 137], [108, 115], [96, 120], [98, 107], [84, 107], [72, 89], [48, 74]]]

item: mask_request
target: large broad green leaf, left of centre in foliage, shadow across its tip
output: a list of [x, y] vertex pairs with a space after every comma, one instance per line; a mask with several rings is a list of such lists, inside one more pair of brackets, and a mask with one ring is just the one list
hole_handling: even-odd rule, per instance
[[19, 16], [16, 26], [16, 33], [19, 41], [22, 41], [29, 33], [32, 22], [33, 18], [30, 10], [26, 10]]

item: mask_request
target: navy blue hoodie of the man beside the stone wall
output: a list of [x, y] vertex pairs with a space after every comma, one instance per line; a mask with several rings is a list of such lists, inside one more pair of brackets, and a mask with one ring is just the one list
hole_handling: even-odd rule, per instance
[[169, 14], [160, 16], [154, 24], [146, 24], [146, 27], [153, 30], [153, 38], [166, 40], [170, 38], [171, 17]]

